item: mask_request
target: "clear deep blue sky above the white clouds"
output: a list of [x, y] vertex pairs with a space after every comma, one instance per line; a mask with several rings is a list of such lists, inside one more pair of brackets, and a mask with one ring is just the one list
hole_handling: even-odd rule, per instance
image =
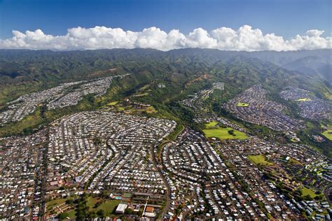
[[159, 27], [188, 34], [195, 28], [238, 29], [249, 24], [263, 33], [284, 38], [309, 29], [331, 35], [330, 0], [0, 0], [0, 38], [12, 30], [42, 29], [45, 34], [64, 35], [72, 27], [120, 27], [141, 31]]

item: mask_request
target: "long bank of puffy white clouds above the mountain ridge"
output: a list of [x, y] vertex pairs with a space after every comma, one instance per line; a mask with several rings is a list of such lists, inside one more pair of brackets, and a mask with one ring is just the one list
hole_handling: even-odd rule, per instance
[[194, 29], [188, 35], [173, 29], [170, 32], [156, 27], [142, 31], [124, 31], [120, 28], [75, 27], [64, 36], [36, 31], [13, 31], [13, 37], [0, 40], [0, 48], [32, 50], [93, 50], [111, 48], [154, 48], [172, 50], [178, 48], [215, 48], [219, 50], [313, 50], [331, 48], [332, 38], [322, 37], [324, 31], [309, 30], [305, 35], [284, 39], [275, 34], [263, 34], [260, 29], [244, 25], [237, 30], [221, 27], [212, 31]]

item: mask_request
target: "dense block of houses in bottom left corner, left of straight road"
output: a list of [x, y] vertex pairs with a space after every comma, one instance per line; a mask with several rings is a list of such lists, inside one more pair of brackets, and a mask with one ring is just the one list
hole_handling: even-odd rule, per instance
[[45, 131], [0, 142], [0, 218], [38, 218], [41, 211]]

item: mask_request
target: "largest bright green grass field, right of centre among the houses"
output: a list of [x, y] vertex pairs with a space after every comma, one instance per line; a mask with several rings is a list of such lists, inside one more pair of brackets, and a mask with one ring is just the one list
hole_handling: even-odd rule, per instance
[[[206, 137], [215, 137], [219, 138], [220, 140], [226, 140], [226, 139], [244, 140], [248, 138], [248, 136], [241, 131], [237, 131], [236, 129], [232, 129], [230, 127], [226, 128], [217, 127], [216, 124], [218, 124], [218, 122], [209, 122], [205, 124], [206, 129], [203, 129], [203, 132]], [[233, 130], [234, 136], [228, 133], [228, 131], [230, 130]]]

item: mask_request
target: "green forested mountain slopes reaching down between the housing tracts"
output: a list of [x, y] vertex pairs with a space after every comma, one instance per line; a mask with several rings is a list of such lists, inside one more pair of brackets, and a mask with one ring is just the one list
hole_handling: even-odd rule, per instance
[[[0, 108], [8, 108], [8, 101], [22, 94], [37, 92], [62, 83], [92, 80], [107, 76], [123, 75], [115, 78], [106, 94], [96, 98], [85, 96], [78, 106], [46, 110], [38, 108], [22, 122], [6, 124], [0, 128], [1, 136], [31, 131], [41, 124], [55, 120], [62, 115], [81, 110], [93, 110], [111, 101], [130, 98], [155, 106], [156, 117], [167, 117], [193, 124], [195, 110], [179, 105], [179, 101], [201, 90], [212, 88], [213, 83], [225, 83], [226, 90], [216, 90], [212, 99], [207, 100], [207, 108], [225, 114], [221, 106], [253, 85], [262, 85], [268, 90], [268, 98], [287, 107], [287, 115], [300, 117], [295, 102], [285, 101], [279, 92], [286, 87], [296, 87], [310, 91], [319, 99], [331, 100], [331, 82], [324, 73], [305, 71], [303, 62], [308, 56], [314, 61], [331, 64], [325, 55], [331, 50], [298, 52], [228, 52], [207, 49], [182, 49], [162, 52], [151, 49], [113, 49], [54, 52], [50, 50], [0, 50]], [[295, 71], [285, 69], [293, 62]], [[296, 64], [296, 68], [294, 65]], [[307, 63], [305, 63], [307, 64]], [[298, 69], [304, 69], [303, 72]], [[317, 69], [318, 70], [318, 69]], [[160, 87], [160, 84], [162, 87]], [[331, 101], [330, 101], [331, 102]], [[227, 114], [227, 113], [226, 113]], [[150, 114], [151, 115], [151, 114]], [[235, 119], [236, 120], [236, 119]], [[305, 120], [307, 121], [307, 120]], [[328, 125], [330, 122], [324, 121]], [[321, 126], [310, 122], [303, 134], [303, 140], [316, 145], [327, 154], [329, 143], [313, 143], [307, 134], [320, 134]], [[255, 129], [256, 130], [256, 129]], [[257, 131], [257, 130], [256, 130]], [[264, 132], [265, 131], [265, 132]], [[257, 133], [268, 133], [259, 129]], [[310, 135], [311, 136], [311, 135]]]

